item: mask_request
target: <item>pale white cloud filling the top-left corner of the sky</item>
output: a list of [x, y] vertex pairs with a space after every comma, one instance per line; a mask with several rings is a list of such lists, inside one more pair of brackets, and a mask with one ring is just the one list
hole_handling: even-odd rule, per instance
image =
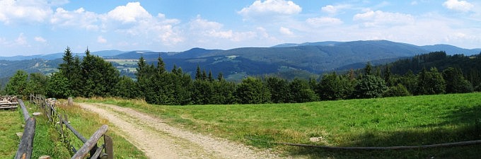
[[1, 0], [0, 21], [9, 23], [41, 23], [52, 14], [47, 1]]

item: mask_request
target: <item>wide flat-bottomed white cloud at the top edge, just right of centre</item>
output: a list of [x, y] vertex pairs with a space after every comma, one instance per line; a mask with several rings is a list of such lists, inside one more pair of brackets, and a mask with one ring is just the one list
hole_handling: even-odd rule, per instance
[[265, 0], [254, 1], [248, 7], [238, 11], [245, 19], [258, 18], [265, 16], [291, 16], [302, 11], [301, 6], [293, 1], [285, 0]]

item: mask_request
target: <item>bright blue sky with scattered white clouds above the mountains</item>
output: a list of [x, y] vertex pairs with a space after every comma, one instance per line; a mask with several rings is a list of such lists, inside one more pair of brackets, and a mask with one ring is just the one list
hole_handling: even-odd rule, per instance
[[0, 0], [0, 56], [391, 40], [481, 48], [475, 0]]

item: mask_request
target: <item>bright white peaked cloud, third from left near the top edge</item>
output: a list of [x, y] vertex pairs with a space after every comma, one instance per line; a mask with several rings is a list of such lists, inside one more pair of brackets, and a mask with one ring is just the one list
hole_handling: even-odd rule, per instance
[[140, 2], [130, 2], [125, 6], [117, 6], [107, 13], [107, 17], [122, 23], [136, 23], [139, 20], [152, 18], [151, 14], [140, 6]]

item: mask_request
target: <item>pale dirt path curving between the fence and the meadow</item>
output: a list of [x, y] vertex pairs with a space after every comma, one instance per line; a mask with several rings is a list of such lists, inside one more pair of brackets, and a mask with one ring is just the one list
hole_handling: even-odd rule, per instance
[[104, 104], [79, 104], [117, 127], [119, 134], [149, 158], [279, 158], [268, 151], [225, 139], [195, 134], [165, 124], [161, 119], [130, 108]]

